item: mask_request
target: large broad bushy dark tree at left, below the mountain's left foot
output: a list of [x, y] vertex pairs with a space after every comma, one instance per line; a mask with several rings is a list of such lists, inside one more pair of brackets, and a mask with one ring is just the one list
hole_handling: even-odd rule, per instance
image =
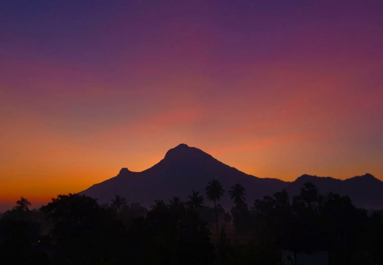
[[54, 224], [50, 235], [56, 242], [57, 264], [103, 264], [105, 257], [119, 257], [123, 252], [123, 224], [96, 199], [58, 195], [41, 212]]

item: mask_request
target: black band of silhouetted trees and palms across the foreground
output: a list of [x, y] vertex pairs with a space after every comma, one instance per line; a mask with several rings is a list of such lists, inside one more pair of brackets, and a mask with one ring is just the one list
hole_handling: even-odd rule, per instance
[[[205, 195], [205, 194], [204, 194]], [[219, 205], [230, 196], [230, 212]], [[306, 183], [251, 206], [246, 190], [224, 193], [209, 182], [204, 197], [156, 200], [149, 209], [116, 195], [100, 206], [84, 195], [58, 195], [39, 210], [21, 198], [0, 217], [0, 264], [276, 265], [281, 250], [327, 251], [331, 265], [382, 265], [383, 214], [347, 196], [318, 194]]]

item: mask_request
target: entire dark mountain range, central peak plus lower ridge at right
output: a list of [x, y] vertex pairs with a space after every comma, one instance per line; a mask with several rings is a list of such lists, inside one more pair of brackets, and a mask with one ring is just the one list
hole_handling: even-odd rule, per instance
[[97, 198], [99, 203], [109, 203], [118, 194], [129, 202], [139, 202], [148, 207], [156, 199], [168, 201], [173, 196], [179, 196], [186, 200], [192, 190], [205, 194], [205, 187], [213, 178], [219, 180], [225, 190], [219, 201], [224, 207], [232, 206], [227, 191], [235, 183], [246, 187], [246, 201], [251, 207], [255, 199], [273, 195], [283, 188], [289, 191], [290, 196], [297, 195], [305, 182], [312, 182], [321, 193], [332, 191], [349, 195], [356, 206], [383, 209], [383, 182], [370, 174], [347, 180], [302, 175], [294, 182], [258, 178], [186, 144], [170, 149], [164, 159], [144, 171], [132, 172], [122, 168], [117, 176], [92, 185], [80, 194]]

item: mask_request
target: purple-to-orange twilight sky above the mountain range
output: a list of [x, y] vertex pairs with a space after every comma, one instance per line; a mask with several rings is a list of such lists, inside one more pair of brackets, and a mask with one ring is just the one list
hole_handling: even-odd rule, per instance
[[0, 0], [0, 210], [179, 143], [383, 180], [383, 1]]

